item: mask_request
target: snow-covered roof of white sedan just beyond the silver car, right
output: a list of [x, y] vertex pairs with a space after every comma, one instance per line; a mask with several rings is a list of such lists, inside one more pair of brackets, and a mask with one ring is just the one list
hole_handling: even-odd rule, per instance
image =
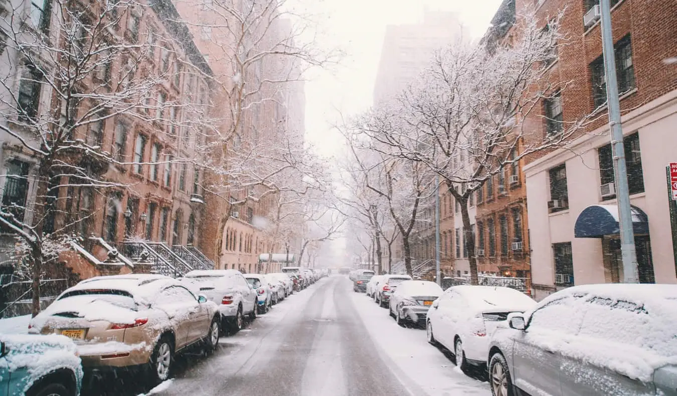
[[505, 286], [458, 285], [447, 290], [464, 296], [475, 312], [530, 311], [536, 301], [519, 290]]

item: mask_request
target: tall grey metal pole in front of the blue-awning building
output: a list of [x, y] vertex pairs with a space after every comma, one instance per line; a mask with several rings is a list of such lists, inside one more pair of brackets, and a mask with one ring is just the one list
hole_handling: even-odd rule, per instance
[[616, 61], [613, 52], [613, 35], [611, 34], [611, 4], [609, 0], [600, 1], [600, 17], [604, 68], [607, 77], [607, 105], [609, 106], [609, 127], [611, 128], [611, 149], [613, 151], [616, 199], [618, 202], [618, 225], [621, 230], [623, 282], [638, 283], [637, 253], [635, 251], [634, 231], [632, 229], [630, 190], [628, 189], [626, 154], [623, 146], [623, 130], [621, 129], [621, 106], [618, 98]]

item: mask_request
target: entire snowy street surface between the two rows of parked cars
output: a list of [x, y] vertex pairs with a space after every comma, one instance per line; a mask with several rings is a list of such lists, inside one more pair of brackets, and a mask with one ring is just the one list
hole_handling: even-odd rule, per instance
[[[260, 315], [213, 355], [177, 358], [171, 384], [105, 378], [85, 395], [489, 395], [426, 341], [399, 327], [347, 277], [321, 279]], [[131, 381], [131, 382], [130, 382]]]

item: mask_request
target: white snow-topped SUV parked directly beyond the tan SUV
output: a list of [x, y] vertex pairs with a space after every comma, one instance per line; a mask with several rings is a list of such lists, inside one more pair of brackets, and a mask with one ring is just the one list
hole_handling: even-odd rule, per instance
[[204, 294], [219, 307], [221, 328], [231, 333], [242, 330], [244, 316], [257, 315], [258, 294], [236, 269], [190, 271], [181, 279], [186, 287]]

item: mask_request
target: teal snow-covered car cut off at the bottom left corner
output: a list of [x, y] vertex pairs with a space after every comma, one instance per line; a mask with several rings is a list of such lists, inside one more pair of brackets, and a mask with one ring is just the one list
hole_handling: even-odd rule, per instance
[[70, 338], [0, 334], [0, 395], [77, 396], [82, 378]]

